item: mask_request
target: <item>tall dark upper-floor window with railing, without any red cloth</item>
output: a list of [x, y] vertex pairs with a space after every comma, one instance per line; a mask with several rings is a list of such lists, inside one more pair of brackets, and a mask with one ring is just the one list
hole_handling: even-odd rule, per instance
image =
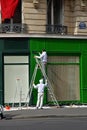
[[67, 34], [67, 26], [64, 26], [63, 20], [63, 0], [47, 1], [47, 33]]

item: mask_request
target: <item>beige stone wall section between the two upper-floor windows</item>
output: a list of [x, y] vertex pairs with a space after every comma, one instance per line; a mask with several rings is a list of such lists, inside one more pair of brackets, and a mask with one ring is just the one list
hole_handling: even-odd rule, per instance
[[[37, 2], [37, 1], [36, 1]], [[27, 24], [28, 33], [45, 33], [46, 32], [46, 0], [40, 0], [38, 8], [34, 7], [33, 0], [23, 0], [22, 3], [22, 20]]]

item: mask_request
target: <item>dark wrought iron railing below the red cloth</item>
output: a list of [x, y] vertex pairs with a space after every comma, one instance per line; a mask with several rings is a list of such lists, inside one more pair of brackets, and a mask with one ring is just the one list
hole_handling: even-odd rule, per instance
[[0, 33], [23, 33], [25, 31], [24, 24], [0, 24]]

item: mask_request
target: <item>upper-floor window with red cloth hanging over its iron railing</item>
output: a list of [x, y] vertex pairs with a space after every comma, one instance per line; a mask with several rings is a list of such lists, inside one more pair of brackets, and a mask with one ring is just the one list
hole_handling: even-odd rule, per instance
[[[8, 1], [6, 5], [1, 2], [0, 33], [24, 32], [22, 24], [22, 0]], [[10, 5], [13, 5], [12, 7]], [[10, 8], [9, 8], [10, 7]]]

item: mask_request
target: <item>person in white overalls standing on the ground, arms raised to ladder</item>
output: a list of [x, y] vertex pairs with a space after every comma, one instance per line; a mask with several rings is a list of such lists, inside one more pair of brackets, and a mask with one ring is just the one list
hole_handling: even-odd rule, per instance
[[45, 80], [45, 83], [43, 83], [43, 79], [40, 79], [39, 84], [33, 84], [33, 86], [34, 88], [38, 89], [36, 109], [42, 109], [44, 99], [44, 88], [47, 87], [47, 80]]

